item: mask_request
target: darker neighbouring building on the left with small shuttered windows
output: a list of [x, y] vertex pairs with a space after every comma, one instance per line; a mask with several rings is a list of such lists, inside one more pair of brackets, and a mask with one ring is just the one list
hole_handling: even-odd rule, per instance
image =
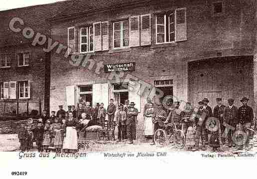
[[[44, 46], [34, 45], [33, 41], [37, 32], [50, 36], [46, 19], [58, 13], [63, 5], [64, 2], [0, 11], [1, 115], [11, 111], [22, 115], [27, 113], [27, 108], [29, 113], [44, 108], [49, 110], [50, 54], [43, 51]], [[23, 23], [15, 21], [13, 26], [10, 25], [14, 18]], [[27, 31], [31, 38], [23, 33], [28, 27], [34, 31], [34, 35]], [[20, 30], [14, 31], [14, 28]]]

